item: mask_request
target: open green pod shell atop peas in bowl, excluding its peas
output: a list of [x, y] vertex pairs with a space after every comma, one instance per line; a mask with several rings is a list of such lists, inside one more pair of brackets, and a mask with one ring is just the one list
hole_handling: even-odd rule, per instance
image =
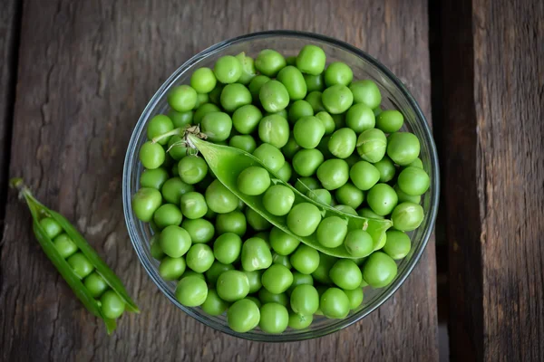
[[265, 164], [263, 164], [257, 157], [254, 157], [246, 151], [238, 148], [209, 143], [194, 134], [187, 134], [186, 138], [189, 146], [199, 150], [202, 156], [206, 159], [209, 168], [213, 171], [215, 176], [217, 176], [219, 181], [233, 194], [237, 195], [244, 203], [246, 203], [246, 205], [251, 207], [261, 216], [265, 217], [271, 224], [277, 226], [277, 228], [281, 229], [285, 233], [293, 235], [300, 240], [300, 242], [306, 243], [306, 245], [311, 246], [320, 252], [335, 256], [337, 258], [354, 258], [349, 252], [347, 252], [347, 250], [345, 250], [344, 245], [340, 245], [335, 248], [327, 248], [321, 243], [317, 242], [315, 235], [301, 237], [292, 233], [287, 228], [286, 218], [284, 216], [276, 216], [267, 212], [267, 209], [262, 204], [261, 195], [246, 195], [238, 190], [237, 183], [240, 172], [252, 166], [259, 166], [267, 169], [270, 175], [276, 178], [274, 180], [276, 184], [287, 186], [293, 191], [295, 194], [295, 204], [305, 202], [316, 205], [317, 208], [321, 210], [321, 214], [324, 218], [333, 215], [344, 218], [347, 221], [348, 228], [350, 230], [362, 229], [367, 233], [370, 233], [374, 241], [374, 245], [379, 243], [380, 239], [384, 236], [385, 231], [393, 225], [390, 220], [368, 219], [352, 214], [345, 214], [329, 205], [316, 203], [306, 195], [301, 194], [295, 187], [282, 181], [275, 172], [266, 167]]

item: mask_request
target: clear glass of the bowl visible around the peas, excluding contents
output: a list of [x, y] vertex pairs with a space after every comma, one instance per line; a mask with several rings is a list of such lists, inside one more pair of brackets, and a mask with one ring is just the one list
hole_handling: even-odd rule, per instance
[[[411, 233], [412, 250], [400, 262], [398, 262], [398, 274], [387, 287], [372, 290], [366, 287], [364, 290], [364, 303], [357, 309], [352, 310], [345, 319], [316, 318], [312, 325], [305, 330], [287, 329], [280, 335], [271, 335], [260, 331], [252, 330], [248, 333], [237, 333], [228, 328], [225, 315], [212, 317], [199, 308], [188, 308], [182, 306], [175, 297], [175, 281], [164, 281], [159, 275], [159, 262], [151, 257], [150, 240], [151, 228], [149, 224], [138, 220], [131, 209], [131, 196], [138, 190], [140, 176], [143, 170], [138, 158], [138, 150], [146, 141], [146, 126], [148, 121], [155, 115], [166, 113], [169, 109], [167, 102], [168, 91], [180, 84], [189, 84], [190, 75], [199, 67], [213, 67], [214, 62], [223, 55], [236, 55], [239, 52], [246, 52], [249, 56], [257, 56], [257, 52], [263, 49], [275, 49], [282, 52], [286, 57], [296, 55], [300, 48], [307, 43], [313, 43], [326, 53], [328, 62], [345, 62], [354, 71], [354, 79], [372, 79], [376, 82], [382, 92], [382, 107], [384, 109], [397, 109], [404, 115], [403, 130], [413, 132], [421, 142], [421, 155], [423, 168], [431, 176], [431, 187], [423, 195], [422, 203], [425, 211], [425, 218], [421, 226]], [[404, 87], [403, 83], [393, 75], [384, 65], [376, 61], [365, 52], [347, 43], [317, 35], [314, 33], [300, 33], [289, 31], [273, 31], [263, 33], [251, 33], [237, 38], [218, 43], [208, 49], [199, 52], [189, 61], [185, 62], [170, 78], [162, 84], [155, 93], [145, 110], [141, 114], [127, 150], [123, 177], [122, 177], [122, 200], [127, 228], [131, 236], [131, 242], [140, 258], [145, 270], [150, 274], [151, 280], [157, 284], [170, 301], [180, 310], [207, 326], [218, 329], [229, 335], [239, 338], [246, 338], [257, 341], [283, 342], [296, 341], [308, 338], [317, 338], [326, 334], [344, 329], [359, 319], [363, 319], [373, 310], [382, 305], [393, 292], [396, 291], [403, 281], [406, 280], [415, 264], [419, 261], [425, 245], [432, 233], [434, 219], [438, 208], [439, 193], [439, 172], [436, 148], [432, 140], [431, 129], [427, 124], [423, 112], [412, 94]]]

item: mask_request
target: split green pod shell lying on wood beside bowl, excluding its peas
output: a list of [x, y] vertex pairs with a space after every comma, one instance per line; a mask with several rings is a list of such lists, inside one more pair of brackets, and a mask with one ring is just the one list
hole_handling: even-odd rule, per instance
[[42, 246], [45, 254], [53, 262], [56, 269], [61, 273], [64, 280], [70, 285], [75, 295], [83, 302], [83, 305], [94, 316], [102, 319], [106, 325], [108, 334], [111, 334], [114, 329], [117, 328], [115, 319], [106, 318], [101, 309], [101, 302], [92, 297], [90, 291], [83, 285], [82, 279], [76, 275], [72, 266], [63, 258], [61, 253], [56, 249], [53, 244], [53, 240], [47, 235], [40, 220], [44, 217], [52, 218], [63, 229], [63, 233], [66, 233], [68, 237], [75, 243], [79, 252], [92, 263], [94, 271], [96, 271], [102, 279], [108, 284], [108, 286], [114, 291], [119, 298], [125, 303], [125, 309], [140, 313], [138, 306], [131, 300], [128, 292], [125, 290], [119, 278], [113, 273], [113, 271], [102, 261], [100, 256], [92, 249], [72, 224], [63, 217], [63, 215], [55, 213], [45, 205], [40, 203], [34, 198], [30, 190], [24, 186], [21, 178], [14, 178], [10, 181], [10, 185], [19, 189], [19, 195], [24, 197], [24, 201], [30, 209], [30, 213], [33, 217], [33, 231], [38, 243]]

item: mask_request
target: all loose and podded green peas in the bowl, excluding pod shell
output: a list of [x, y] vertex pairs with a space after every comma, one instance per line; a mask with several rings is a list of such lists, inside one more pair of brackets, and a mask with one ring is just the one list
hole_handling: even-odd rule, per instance
[[[430, 186], [419, 139], [402, 132], [403, 114], [382, 110], [372, 80], [354, 81], [343, 62], [306, 45], [296, 56], [266, 49], [199, 68], [190, 85], [170, 90], [170, 112], [150, 120], [140, 149], [136, 216], [151, 224], [151, 254], [160, 276], [177, 281], [182, 305], [226, 313], [237, 332], [306, 329], [314, 316], [344, 319], [363, 302], [363, 288], [382, 288], [411, 250], [405, 232], [423, 221]], [[285, 233], [223, 186], [206, 160], [184, 142], [198, 126], [209, 142], [242, 149], [265, 167], [238, 175], [238, 189], [262, 195]], [[294, 205], [293, 191], [312, 201]], [[393, 221], [379, 245], [339, 217], [322, 219], [316, 203], [346, 214]], [[315, 234], [325, 247], [345, 245], [341, 259], [300, 243]]]

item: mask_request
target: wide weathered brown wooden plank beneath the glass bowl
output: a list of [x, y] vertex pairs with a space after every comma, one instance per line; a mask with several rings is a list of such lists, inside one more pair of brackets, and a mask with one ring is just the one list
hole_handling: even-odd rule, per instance
[[[408, 4], [410, 3], [410, 4]], [[10, 173], [77, 224], [139, 301], [107, 337], [30, 233], [11, 196], [0, 272], [3, 359], [436, 360], [431, 242], [413, 274], [370, 317], [293, 344], [231, 338], [175, 309], [141, 268], [125, 230], [121, 168], [131, 129], [172, 71], [221, 40], [289, 28], [364, 49], [407, 83], [430, 117], [426, 1], [92, 1], [24, 5]]]

